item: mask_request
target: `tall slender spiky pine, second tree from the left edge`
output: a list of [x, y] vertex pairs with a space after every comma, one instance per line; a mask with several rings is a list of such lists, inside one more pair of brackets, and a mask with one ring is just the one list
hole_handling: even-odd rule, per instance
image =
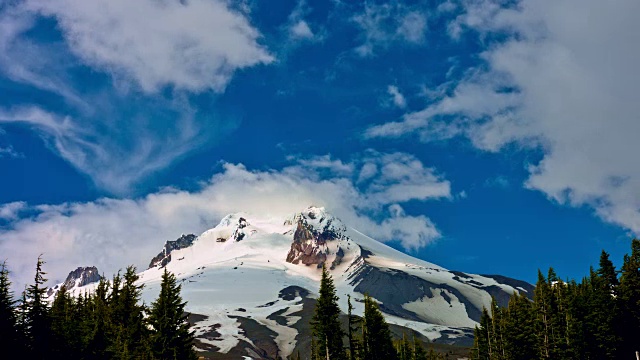
[[34, 283], [26, 291], [26, 341], [32, 359], [48, 358], [51, 348], [49, 306], [44, 298], [47, 291], [44, 283], [47, 279], [44, 278], [46, 273], [42, 270], [42, 265], [44, 265], [44, 260], [42, 260], [42, 256], [39, 256]]

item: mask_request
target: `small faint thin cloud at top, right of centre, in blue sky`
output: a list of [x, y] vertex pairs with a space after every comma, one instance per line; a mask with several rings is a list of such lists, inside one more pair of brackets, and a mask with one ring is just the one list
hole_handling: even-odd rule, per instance
[[394, 42], [422, 44], [427, 30], [426, 15], [401, 3], [366, 3], [364, 11], [352, 20], [363, 38], [355, 49], [360, 56], [374, 55], [376, 49], [384, 50]]

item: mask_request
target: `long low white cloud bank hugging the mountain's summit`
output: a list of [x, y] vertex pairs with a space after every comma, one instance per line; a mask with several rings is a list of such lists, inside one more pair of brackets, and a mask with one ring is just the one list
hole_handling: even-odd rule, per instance
[[[309, 205], [325, 206], [346, 224], [381, 241], [405, 248], [427, 245], [440, 236], [424, 215], [409, 215], [410, 200], [450, 197], [449, 182], [411, 155], [368, 152], [350, 162], [352, 171], [321, 173], [318, 162], [280, 171], [252, 171], [241, 164], [223, 170], [193, 192], [170, 189], [140, 199], [100, 199], [87, 203], [12, 203], [0, 208], [10, 223], [0, 228], [0, 253], [9, 258], [17, 284], [32, 277], [44, 253], [47, 271], [60, 280], [80, 265], [94, 264], [109, 274], [128, 264], [146, 266], [163, 242], [181, 233], [200, 233], [226, 214], [249, 212], [286, 216]], [[360, 170], [376, 164], [364, 184]], [[319, 165], [319, 166], [318, 166]], [[17, 218], [28, 210], [31, 217]]]

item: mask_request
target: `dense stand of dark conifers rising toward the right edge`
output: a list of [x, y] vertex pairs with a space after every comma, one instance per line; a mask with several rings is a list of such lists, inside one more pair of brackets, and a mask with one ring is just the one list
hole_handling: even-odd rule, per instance
[[538, 271], [534, 300], [495, 301], [475, 329], [474, 360], [636, 359], [640, 351], [640, 241], [618, 271], [605, 251], [580, 282]]

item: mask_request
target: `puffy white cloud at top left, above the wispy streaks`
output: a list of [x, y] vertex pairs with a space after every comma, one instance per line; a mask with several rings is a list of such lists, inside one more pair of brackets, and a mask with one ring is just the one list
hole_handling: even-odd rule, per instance
[[25, 0], [22, 6], [54, 17], [86, 64], [133, 79], [147, 92], [222, 91], [235, 70], [274, 60], [247, 18], [220, 0]]

